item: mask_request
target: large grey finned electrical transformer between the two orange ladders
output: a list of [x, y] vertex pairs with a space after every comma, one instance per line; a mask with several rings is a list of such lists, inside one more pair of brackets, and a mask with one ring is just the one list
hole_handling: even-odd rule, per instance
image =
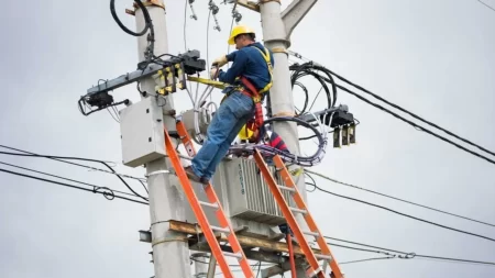
[[[277, 184], [283, 185], [282, 178], [275, 174], [275, 168], [271, 167], [271, 170]], [[273, 230], [274, 226], [286, 223], [253, 159], [223, 159], [211, 184], [234, 230], [244, 230], [253, 236], [270, 237], [277, 233]], [[207, 201], [202, 186], [196, 182], [194, 186], [199, 200]], [[289, 205], [294, 207], [293, 199], [289, 198], [290, 192], [283, 193], [286, 200], [289, 200]], [[213, 210], [205, 208], [210, 224], [219, 225]], [[191, 223], [197, 222], [190, 205], [186, 208], [186, 219]]]

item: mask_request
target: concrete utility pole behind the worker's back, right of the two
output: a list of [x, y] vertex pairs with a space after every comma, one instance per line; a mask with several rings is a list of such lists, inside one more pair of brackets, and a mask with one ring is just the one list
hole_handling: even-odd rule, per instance
[[[275, 60], [274, 82], [270, 90], [273, 116], [294, 115], [293, 89], [288, 68], [288, 54], [286, 51], [290, 47], [290, 33], [316, 2], [317, 0], [294, 0], [290, 5], [282, 12], [279, 0], [260, 1], [264, 44], [274, 52]], [[274, 123], [274, 130], [284, 138], [287, 147], [293, 154], [300, 153], [299, 135], [295, 123], [276, 122]], [[304, 176], [298, 176], [296, 182], [297, 189], [307, 203]], [[302, 215], [298, 214], [296, 215], [296, 219], [302, 231], [308, 231], [308, 226], [302, 219]], [[307, 240], [310, 241], [312, 237], [308, 236]], [[297, 277], [306, 277], [305, 269], [297, 267]]]

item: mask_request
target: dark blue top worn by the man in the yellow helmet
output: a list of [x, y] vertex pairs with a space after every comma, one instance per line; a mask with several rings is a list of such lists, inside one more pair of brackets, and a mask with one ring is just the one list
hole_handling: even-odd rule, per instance
[[[233, 62], [233, 64], [229, 70], [220, 70], [218, 79], [222, 82], [234, 85], [237, 77], [244, 76], [258, 90], [268, 85], [271, 81], [268, 67], [261, 53], [254, 47], [260, 48], [264, 53], [263, 45], [256, 42], [227, 55], [227, 60]], [[273, 53], [268, 52], [272, 67], [274, 67]]]

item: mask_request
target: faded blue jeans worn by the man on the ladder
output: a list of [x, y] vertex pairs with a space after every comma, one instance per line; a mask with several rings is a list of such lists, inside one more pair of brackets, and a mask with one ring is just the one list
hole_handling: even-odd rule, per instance
[[254, 115], [253, 99], [234, 91], [220, 104], [208, 126], [208, 138], [193, 158], [196, 176], [211, 179], [245, 122]]

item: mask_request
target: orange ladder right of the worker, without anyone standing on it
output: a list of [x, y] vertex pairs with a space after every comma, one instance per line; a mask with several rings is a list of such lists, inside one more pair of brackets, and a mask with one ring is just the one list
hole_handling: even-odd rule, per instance
[[[339, 265], [337, 264], [336, 259], [333, 258], [333, 255], [330, 252], [330, 248], [329, 248], [327, 242], [324, 241], [323, 235], [321, 234], [315, 220], [312, 219], [311, 214], [309, 213], [309, 210], [306, 207], [306, 203], [302, 200], [302, 197], [300, 196], [299, 191], [297, 190], [297, 186], [294, 182], [289, 171], [287, 170], [287, 167], [285, 167], [285, 164], [282, 160], [280, 156], [275, 155], [273, 157], [273, 162], [275, 163], [276, 170], [282, 174], [282, 179], [283, 179], [285, 186], [276, 184], [274, 177], [272, 176], [272, 174], [268, 169], [268, 166], [266, 165], [265, 160], [263, 159], [262, 154], [257, 149], [254, 151], [254, 159], [255, 159], [256, 165], [260, 168], [261, 173], [263, 174], [263, 177], [265, 178], [266, 184], [270, 187], [270, 190], [272, 191], [273, 196], [275, 197], [275, 200], [277, 201], [278, 207], [280, 208], [282, 212], [284, 213], [284, 216], [287, 220], [288, 225], [293, 230], [294, 235], [296, 236], [296, 240], [297, 240], [302, 253], [305, 254], [306, 259], [308, 260], [308, 264], [310, 265], [310, 269], [309, 269], [309, 271], [307, 271], [308, 277], [324, 278], [324, 273], [321, 269], [320, 265], [318, 264], [318, 259], [323, 259], [330, 264], [330, 267], [333, 271], [334, 277], [342, 278], [343, 276], [339, 268]], [[288, 205], [288, 201], [286, 201], [284, 199], [284, 196], [282, 194], [282, 190], [290, 192], [290, 196], [293, 197], [297, 208], [290, 208]], [[294, 213], [302, 213], [304, 219], [306, 220], [306, 223], [308, 224], [309, 231], [301, 231], [300, 226], [297, 224]], [[306, 242], [305, 234], [316, 237], [317, 243], [321, 251], [321, 255], [315, 254], [312, 252], [308, 242]]]

